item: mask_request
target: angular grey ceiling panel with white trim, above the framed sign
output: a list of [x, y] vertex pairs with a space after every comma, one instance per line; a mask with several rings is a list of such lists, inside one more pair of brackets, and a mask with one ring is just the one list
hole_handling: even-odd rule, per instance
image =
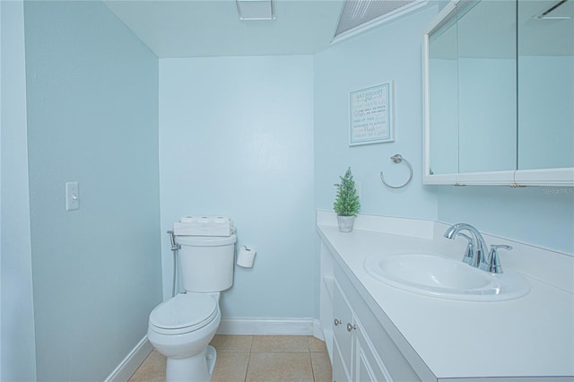
[[332, 42], [412, 12], [426, 0], [345, 0]]

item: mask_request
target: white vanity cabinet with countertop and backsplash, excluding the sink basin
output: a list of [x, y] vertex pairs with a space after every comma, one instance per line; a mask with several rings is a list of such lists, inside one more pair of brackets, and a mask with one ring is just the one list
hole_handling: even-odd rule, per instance
[[[525, 275], [526, 296], [496, 303], [436, 299], [378, 282], [365, 260], [377, 253], [442, 252], [446, 224], [419, 226], [422, 233], [413, 236], [396, 231], [404, 221], [361, 216], [365, 230], [341, 233], [335, 213], [328, 218], [317, 214], [325, 222], [317, 224], [319, 320], [334, 381], [574, 382], [574, 257], [508, 240], [503, 244], [519, 256], [507, 256], [504, 265]], [[409, 221], [404, 230], [413, 226]], [[465, 240], [460, 244], [463, 253]], [[469, 322], [488, 334], [468, 330]]]

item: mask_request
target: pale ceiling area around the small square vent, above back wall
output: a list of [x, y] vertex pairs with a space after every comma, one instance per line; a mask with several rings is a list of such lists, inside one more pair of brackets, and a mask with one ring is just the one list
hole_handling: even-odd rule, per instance
[[276, 20], [240, 21], [235, 0], [108, 0], [160, 58], [307, 55], [331, 43], [343, 0], [275, 0]]

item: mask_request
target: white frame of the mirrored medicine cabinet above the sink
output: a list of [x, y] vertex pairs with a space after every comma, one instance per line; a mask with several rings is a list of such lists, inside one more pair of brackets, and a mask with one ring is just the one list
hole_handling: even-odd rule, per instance
[[561, 169], [514, 169], [489, 172], [460, 172], [431, 174], [431, 111], [429, 89], [429, 37], [441, 23], [458, 10], [462, 0], [452, 0], [424, 30], [422, 40], [422, 119], [423, 119], [423, 185], [491, 185], [491, 186], [555, 186], [574, 187], [574, 168]]

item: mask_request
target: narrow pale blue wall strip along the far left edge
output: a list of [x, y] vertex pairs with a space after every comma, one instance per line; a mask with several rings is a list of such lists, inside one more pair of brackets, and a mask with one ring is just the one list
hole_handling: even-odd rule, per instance
[[22, 2], [0, 2], [0, 380], [36, 380]]

